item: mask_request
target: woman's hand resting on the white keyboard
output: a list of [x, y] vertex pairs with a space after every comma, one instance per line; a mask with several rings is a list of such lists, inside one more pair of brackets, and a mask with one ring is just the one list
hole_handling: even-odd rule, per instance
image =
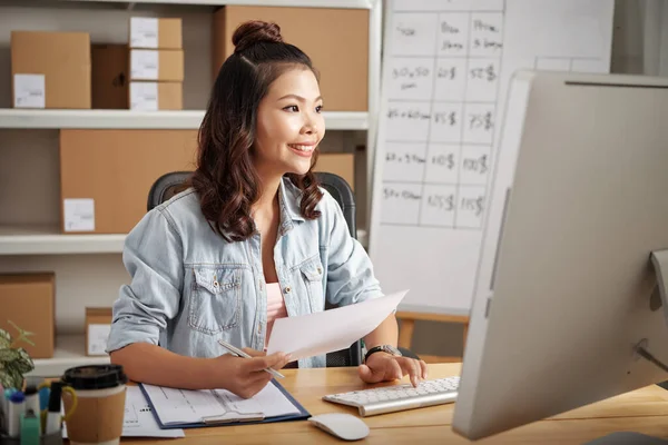
[[358, 368], [360, 378], [366, 383], [390, 382], [402, 378], [406, 374], [411, 384], [418, 386], [426, 378], [426, 363], [410, 357], [396, 357], [384, 352], [369, 356], [369, 360]]

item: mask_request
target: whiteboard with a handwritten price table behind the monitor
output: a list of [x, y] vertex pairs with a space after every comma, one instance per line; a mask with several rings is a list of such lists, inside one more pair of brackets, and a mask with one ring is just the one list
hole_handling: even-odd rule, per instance
[[512, 165], [509, 79], [609, 72], [612, 14], [613, 0], [389, 1], [369, 250], [385, 293], [410, 289], [401, 310], [469, 313], [492, 177]]

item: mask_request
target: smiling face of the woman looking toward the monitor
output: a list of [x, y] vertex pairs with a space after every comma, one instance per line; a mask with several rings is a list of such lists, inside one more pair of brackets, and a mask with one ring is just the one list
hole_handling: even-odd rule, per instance
[[255, 166], [262, 177], [305, 175], [325, 135], [323, 100], [313, 72], [293, 68], [269, 86], [257, 107]]

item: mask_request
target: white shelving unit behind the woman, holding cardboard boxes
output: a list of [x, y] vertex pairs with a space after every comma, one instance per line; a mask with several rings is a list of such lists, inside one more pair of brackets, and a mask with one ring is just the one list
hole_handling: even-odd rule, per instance
[[[324, 113], [327, 131], [345, 132], [344, 137], [334, 136], [341, 144], [354, 146], [358, 140], [358, 132], [365, 132], [367, 177], [364, 196], [369, 200], [380, 95], [381, 0], [37, 0], [26, 3], [9, 1], [0, 4], [0, 48], [4, 46], [8, 50], [11, 29], [68, 30], [89, 27], [92, 42], [121, 42], [125, 34], [114, 29], [111, 22], [125, 23], [121, 20], [126, 20], [130, 13], [149, 16], [155, 11], [165, 17], [179, 17], [183, 13], [187, 18], [184, 19], [184, 39], [186, 36], [194, 39], [194, 51], [190, 55], [194, 55], [196, 63], [202, 63], [202, 68], [191, 71], [186, 67], [186, 80], [190, 76], [193, 82], [190, 87], [206, 80], [209, 72], [206, 60], [208, 53], [203, 47], [208, 44], [208, 36], [206, 31], [204, 37], [199, 32], [206, 26], [207, 14], [214, 7], [244, 4], [370, 10], [369, 112]], [[29, 14], [23, 10], [28, 8], [31, 9]], [[8, 57], [7, 61], [9, 60]], [[0, 273], [31, 268], [55, 270], [57, 276], [56, 352], [52, 358], [36, 359], [36, 368], [31, 375], [58, 376], [72, 366], [108, 363], [108, 357], [89, 357], [85, 354], [84, 308], [110, 305], [112, 299], [109, 298], [115, 299], [120, 285], [119, 277], [124, 277], [120, 253], [126, 235], [60, 233], [57, 222], [58, 206], [53, 202], [58, 196], [58, 171], [53, 167], [58, 161], [57, 131], [77, 128], [197, 129], [204, 117], [200, 108], [204, 106], [205, 95], [198, 87], [193, 95], [195, 100], [190, 102], [195, 107], [184, 103], [187, 109], [183, 111], [24, 110], [9, 108], [7, 95], [10, 78], [8, 76], [0, 81], [7, 82], [4, 89], [0, 88], [0, 185], [7, 187], [9, 184], [21, 188], [16, 196], [10, 195], [7, 189], [4, 195], [0, 191]], [[4, 162], [13, 162], [19, 171], [14, 171], [9, 164], [4, 164], [3, 170], [3, 159]], [[41, 214], [22, 208], [17, 211], [17, 206], [23, 206], [26, 200], [30, 200], [29, 205], [39, 208]], [[360, 228], [357, 234], [365, 245], [366, 230]]]

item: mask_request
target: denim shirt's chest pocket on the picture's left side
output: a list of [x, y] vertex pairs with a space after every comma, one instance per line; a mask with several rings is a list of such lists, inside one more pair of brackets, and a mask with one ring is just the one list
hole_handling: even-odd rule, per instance
[[242, 274], [238, 268], [199, 267], [190, 294], [188, 325], [204, 334], [219, 334], [239, 324]]

